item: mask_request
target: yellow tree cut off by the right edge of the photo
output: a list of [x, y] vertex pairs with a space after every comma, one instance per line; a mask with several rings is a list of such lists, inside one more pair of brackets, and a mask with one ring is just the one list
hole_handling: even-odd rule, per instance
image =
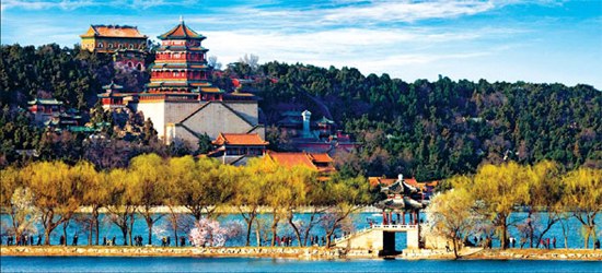
[[563, 203], [570, 207], [581, 223], [584, 248], [589, 239], [595, 240], [595, 216], [602, 210], [602, 170], [581, 167], [569, 171], [563, 179], [565, 193]]

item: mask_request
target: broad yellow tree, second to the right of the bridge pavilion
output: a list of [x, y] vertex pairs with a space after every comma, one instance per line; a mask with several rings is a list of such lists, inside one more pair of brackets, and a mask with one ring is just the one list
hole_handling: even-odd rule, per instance
[[501, 248], [506, 249], [508, 222], [517, 205], [529, 201], [529, 183], [525, 169], [514, 162], [499, 166], [484, 165], [474, 176], [460, 187], [466, 189], [484, 204], [484, 213], [497, 228]]

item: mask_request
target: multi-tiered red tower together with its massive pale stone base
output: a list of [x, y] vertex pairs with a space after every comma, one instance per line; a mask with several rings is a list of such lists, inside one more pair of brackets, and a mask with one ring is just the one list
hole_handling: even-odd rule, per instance
[[258, 134], [257, 100], [252, 94], [229, 93], [213, 86], [208, 78], [205, 36], [181, 20], [159, 36], [161, 48], [151, 67], [151, 80], [143, 93], [130, 94], [128, 106], [152, 121], [165, 143], [183, 141], [196, 147], [199, 135], [216, 139], [220, 133]]

